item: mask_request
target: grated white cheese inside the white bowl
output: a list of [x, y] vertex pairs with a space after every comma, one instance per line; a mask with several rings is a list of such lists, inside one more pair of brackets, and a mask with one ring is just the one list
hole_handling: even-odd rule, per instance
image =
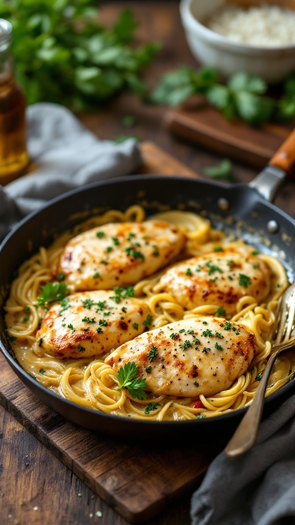
[[207, 20], [209, 29], [229, 40], [257, 47], [295, 44], [295, 11], [261, 5], [242, 9], [224, 6]]

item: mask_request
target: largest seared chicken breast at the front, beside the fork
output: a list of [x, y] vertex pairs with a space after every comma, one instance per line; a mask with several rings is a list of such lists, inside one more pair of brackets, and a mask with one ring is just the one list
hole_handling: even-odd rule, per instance
[[229, 388], [251, 363], [254, 333], [221, 318], [185, 319], [145, 332], [105, 360], [115, 371], [135, 362], [154, 394], [195, 397]]

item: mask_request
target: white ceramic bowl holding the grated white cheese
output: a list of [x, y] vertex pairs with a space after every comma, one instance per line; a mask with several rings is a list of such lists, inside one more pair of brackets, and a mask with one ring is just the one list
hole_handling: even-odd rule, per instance
[[[266, 0], [181, 0], [180, 14], [189, 48], [202, 65], [217, 69], [228, 77], [237, 71], [258, 75], [276, 83], [295, 71], [295, 45], [270, 48], [235, 43], [205, 27], [203, 22], [224, 4], [259, 5]], [[272, 5], [274, 2], [268, 1]], [[280, 7], [295, 9], [295, 0], [278, 0]], [[294, 27], [295, 31], [295, 27]]]

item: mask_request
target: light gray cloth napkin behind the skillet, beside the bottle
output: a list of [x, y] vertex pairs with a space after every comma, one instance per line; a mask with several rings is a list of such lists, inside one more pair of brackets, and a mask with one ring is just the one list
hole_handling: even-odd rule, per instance
[[35, 170], [0, 185], [0, 241], [29, 212], [79, 186], [128, 175], [141, 164], [134, 139], [99, 140], [65, 107], [38, 103], [27, 108], [28, 152]]

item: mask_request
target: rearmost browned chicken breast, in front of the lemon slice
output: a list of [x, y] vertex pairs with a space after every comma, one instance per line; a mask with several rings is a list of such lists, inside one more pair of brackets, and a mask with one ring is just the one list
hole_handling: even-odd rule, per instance
[[166, 266], [184, 244], [184, 234], [162, 220], [110, 223], [71, 239], [58, 271], [71, 290], [125, 288]]

